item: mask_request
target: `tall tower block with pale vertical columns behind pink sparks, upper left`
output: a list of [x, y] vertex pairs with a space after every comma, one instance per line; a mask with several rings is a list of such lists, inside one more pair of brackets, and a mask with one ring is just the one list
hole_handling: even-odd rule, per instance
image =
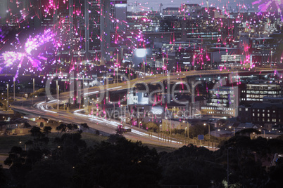
[[54, 28], [58, 59], [108, 61], [110, 0], [39, 2], [40, 27]]

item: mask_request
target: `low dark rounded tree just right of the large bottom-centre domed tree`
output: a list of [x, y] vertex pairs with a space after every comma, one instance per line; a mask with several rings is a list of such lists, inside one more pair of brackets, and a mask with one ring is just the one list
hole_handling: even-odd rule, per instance
[[212, 152], [194, 145], [162, 154], [159, 161], [159, 166], [163, 167], [161, 184], [219, 185], [226, 173], [225, 168], [214, 160]]

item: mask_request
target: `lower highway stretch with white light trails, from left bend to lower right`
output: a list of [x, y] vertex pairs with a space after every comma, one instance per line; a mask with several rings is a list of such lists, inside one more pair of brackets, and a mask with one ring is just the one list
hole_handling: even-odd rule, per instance
[[[51, 102], [46, 103], [38, 102], [39, 100], [44, 100], [44, 98], [39, 98], [37, 101], [34, 100], [34, 105], [32, 105], [32, 100], [17, 101], [12, 105], [12, 109], [16, 112], [24, 114], [32, 114], [34, 116], [40, 116], [45, 119], [54, 119], [56, 121], [61, 121], [64, 123], [87, 123], [90, 128], [95, 130], [103, 131], [104, 133], [115, 134], [115, 130], [120, 124], [118, 121], [111, 119], [103, 119], [97, 116], [91, 116], [83, 114], [84, 109], [77, 109], [73, 113], [58, 111], [51, 108]], [[144, 143], [149, 143], [151, 145], [161, 145], [167, 147], [182, 147], [183, 144], [177, 142], [177, 140], [172, 139], [170, 142], [161, 139], [157, 134], [149, 135], [146, 130], [130, 127], [132, 132], [125, 133], [125, 137], [129, 140], [139, 140]]]

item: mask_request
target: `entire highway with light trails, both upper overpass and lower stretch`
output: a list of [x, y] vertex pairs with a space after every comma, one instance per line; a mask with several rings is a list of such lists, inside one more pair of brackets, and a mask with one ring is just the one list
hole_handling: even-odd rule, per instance
[[[235, 72], [242, 73], [248, 72], [249, 70], [234, 70]], [[282, 70], [279, 70], [282, 71]], [[256, 72], [274, 72], [273, 69], [259, 69], [259, 70], [251, 70], [251, 74], [256, 74]], [[221, 74], [229, 74], [232, 71], [229, 70], [205, 70], [205, 71], [191, 71], [191, 72], [180, 72], [180, 73], [170, 73], [170, 74], [158, 74], [152, 76], [146, 76], [142, 79], [134, 79], [131, 81], [123, 82], [123, 83], [113, 83], [106, 84], [106, 86], [95, 86], [92, 88], [88, 88], [87, 93], [83, 93], [83, 96], [94, 95], [96, 93], [104, 93], [107, 90], [122, 90], [132, 88], [136, 83], [154, 83], [157, 81], [163, 81], [169, 79], [179, 80], [184, 79], [186, 76], [207, 76], [207, 75], [221, 75]], [[54, 97], [54, 96], [52, 96]], [[63, 104], [68, 102], [70, 98], [70, 93], [60, 93], [59, 103]], [[50, 101], [51, 100], [51, 101]], [[34, 104], [32, 104], [34, 102]], [[46, 98], [36, 98], [36, 100], [25, 100], [25, 101], [16, 101], [13, 102], [11, 108], [23, 114], [32, 114], [34, 116], [41, 116], [46, 119], [54, 119], [56, 121], [62, 121], [65, 123], [87, 123], [90, 128], [94, 128], [96, 130], [103, 131], [105, 133], [113, 134], [115, 133], [116, 128], [120, 124], [119, 121], [114, 121], [112, 119], [103, 119], [97, 116], [92, 116], [88, 114], [84, 114], [84, 109], [77, 109], [73, 112], [65, 112], [62, 110], [57, 110], [52, 108], [52, 105], [55, 105], [58, 100], [54, 100], [49, 98], [49, 101], [46, 102]], [[184, 143], [178, 142], [177, 140], [161, 139], [157, 134], [153, 134], [149, 136], [146, 130], [136, 127], [132, 128], [132, 132], [125, 133], [125, 137], [130, 140], [140, 140], [144, 143], [149, 143], [152, 145], [161, 145], [168, 147], [182, 147]]]

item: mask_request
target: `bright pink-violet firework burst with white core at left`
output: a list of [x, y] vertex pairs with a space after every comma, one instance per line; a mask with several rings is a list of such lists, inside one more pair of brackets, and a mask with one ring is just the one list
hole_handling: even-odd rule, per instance
[[38, 70], [42, 70], [40, 66], [40, 60], [46, 60], [46, 58], [38, 55], [35, 58], [32, 55], [32, 51], [37, 50], [40, 46], [44, 45], [44, 43], [48, 43], [49, 41], [52, 41], [54, 39], [54, 33], [51, 32], [51, 29], [47, 29], [44, 31], [44, 34], [38, 34], [37, 36], [30, 36], [27, 41], [25, 42], [25, 52], [13, 52], [13, 51], [6, 51], [2, 53], [1, 57], [4, 60], [4, 63], [2, 64], [1, 69], [3, 67], [12, 67], [14, 65], [17, 65], [17, 72], [15, 74], [15, 77], [18, 77], [18, 72], [20, 67], [22, 67], [24, 58], [27, 58], [27, 60], [32, 64], [32, 67], [37, 68]]

